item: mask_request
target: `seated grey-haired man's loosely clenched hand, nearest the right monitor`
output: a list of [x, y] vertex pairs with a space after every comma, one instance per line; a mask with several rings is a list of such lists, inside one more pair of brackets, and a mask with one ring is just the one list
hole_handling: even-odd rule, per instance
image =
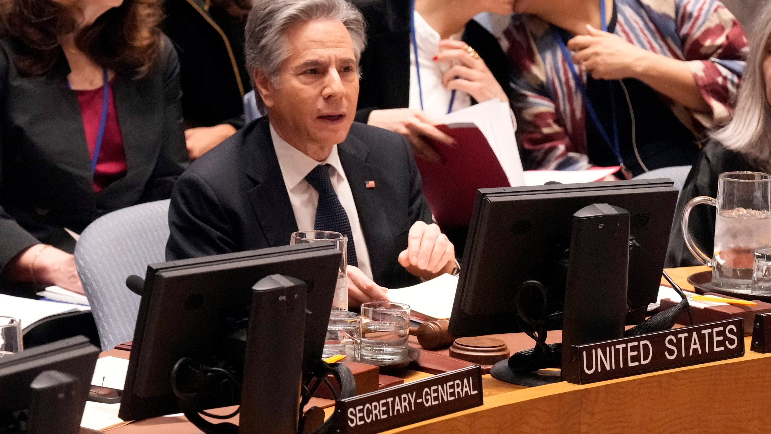
[[407, 249], [399, 253], [399, 264], [423, 279], [453, 273], [455, 246], [438, 225], [418, 221], [409, 229]]

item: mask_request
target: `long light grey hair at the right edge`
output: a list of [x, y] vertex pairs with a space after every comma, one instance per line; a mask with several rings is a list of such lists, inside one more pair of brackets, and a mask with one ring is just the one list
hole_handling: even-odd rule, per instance
[[763, 59], [771, 36], [771, 2], [757, 16], [749, 39], [749, 56], [731, 122], [712, 138], [744, 154], [764, 171], [771, 170], [771, 105], [766, 99]]

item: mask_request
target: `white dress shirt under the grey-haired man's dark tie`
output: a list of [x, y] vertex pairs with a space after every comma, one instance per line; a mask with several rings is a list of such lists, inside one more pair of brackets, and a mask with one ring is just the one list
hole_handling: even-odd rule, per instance
[[345, 209], [345, 214], [348, 215], [348, 222], [351, 224], [359, 269], [372, 279], [372, 266], [369, 263], [369, 251], [364, 240], [362, 225], [359, 222], [359, 212], [356, 212], [351, 185], [348, 184], [348, 178], [345, 177], [345, 171], [342, 169], [337, 145], [332, 147], [332, 152], [329, 153], [325, 161], [315, 161], [284, 141], [274, 130], [272, 124], [270, 128], [273, 148], [276, 151], [281, 175], [284, 177], [284, 185], [287, 188], [291, 209], [295, 212], [298, 230], [312, 231], [315, 229], [316, 206], [318, 206], [318, 192], [308, 184], [308, 181], [305, 181], [305, 176], [319, 164], [329, 164], [332, 166], [329, 168], [332, 188], [335, 188], [335, 193], [337, 193], [340, 204]]

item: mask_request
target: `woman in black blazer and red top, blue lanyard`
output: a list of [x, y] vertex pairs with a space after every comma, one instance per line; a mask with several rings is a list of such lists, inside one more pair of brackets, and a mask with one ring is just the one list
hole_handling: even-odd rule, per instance
[[4, 279], [82, 293], [70, 232], [170, 197], [187, 151], [177, 54], [157, 27], [160, 11], [160, 0], [0, 8]]

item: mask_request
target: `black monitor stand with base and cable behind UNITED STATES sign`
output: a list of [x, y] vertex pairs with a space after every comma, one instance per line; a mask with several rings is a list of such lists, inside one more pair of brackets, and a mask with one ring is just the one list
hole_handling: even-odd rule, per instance
[[[570, 255], [564, 292], [562, 341], [589, 344], [622, 337], [627, 311], [629, 213], [608, 204], [593, 204], [573, 215]], [[564, 263], [561, 261], [560, 263]], [[515, 296], [517, 322], [536, 341], [531, 350], [513, 354], [493, 366], [490, 374], [501, 381], [535, 386], [567, 380], [574, 372], [546, 371], [565, 366], [563, 344], [546, 344], [549, 291], [535, 280], [522, 283]], [[542, 299], [540, 313], [527, 312], [524, 301], [534, 294]], [[552, 294], [553, 299], [556, 294]], [[531, 309], [532, 310], [532, 309]], [[533, 319], [537, 316], [537, 319]]]

